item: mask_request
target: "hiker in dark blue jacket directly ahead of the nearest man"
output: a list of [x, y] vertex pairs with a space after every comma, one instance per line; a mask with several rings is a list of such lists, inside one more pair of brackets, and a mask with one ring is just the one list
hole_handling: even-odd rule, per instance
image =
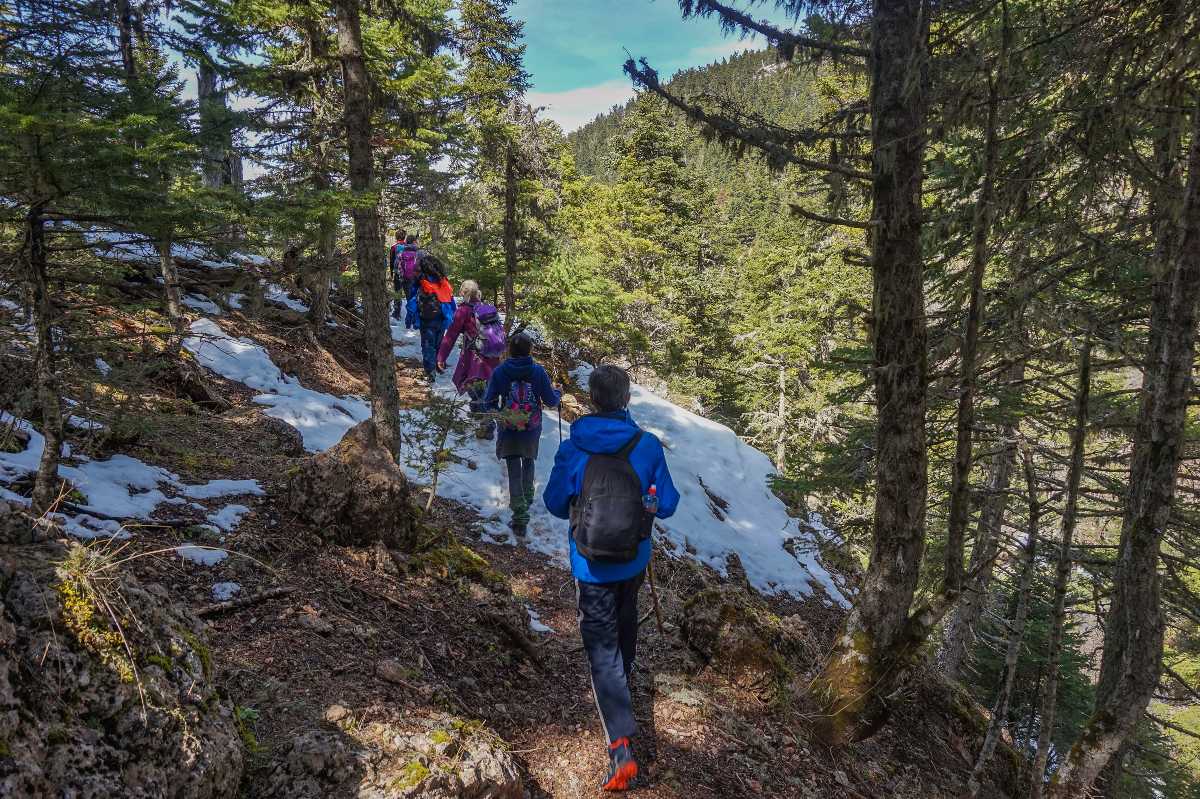
[[533, 340], [526, 334], [509, 338], [509, 359], [492, 372], [482, 402], [484, 408], [499, 405], [496, 457], [504, 461], [509, 470], [509, 507], [516, 536], [523, 536], [529, 525], [534, 463], [541, 440], [541, 408], [557, 408], [560, 398], [546, 370], [534, 364], [532, 352]]

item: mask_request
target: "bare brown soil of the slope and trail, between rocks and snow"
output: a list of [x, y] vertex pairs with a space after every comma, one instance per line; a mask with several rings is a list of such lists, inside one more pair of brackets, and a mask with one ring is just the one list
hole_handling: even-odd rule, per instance
[[[293, 317], [295, 314], [292, 314]], [[221, 319], [230, 334], [252, 337], [286, 360], [312, 388], [335, 394], [364, 390], [361, 348], [348, 328], [323, 334], [324, 352], [304, 341], [296, 319], [265, 313]], [[401, 362], [407, 404], [424, 396], [419, 366]], [[300, 459], [281, 452], [280, 439], [242, 386], [217, 380], [234, 403], [214, 414], [173, 403], [152, 386], [137, 389], [144, 428], [131, 455], [178, 471], [187, 481], [258, 479], [268, 495], [233, 501], [252, 507], [221, 546], [233, 554], [215, 567], [182, 561], [173, 553], [130, 561], [139, 577], [154, 578], [203, 606], [215, 582], [234, 581], [242, 595], [272, 587], [296, 590], [211, 618], [209, 642], [224, 693], [246, 708], [257, 739], [242, 794], [259, 793], [288, 743], [312, 727], [329, 727], [326, 708], [337, 703], [355, 723], [397, 725], [436, 711], [479, 719], [520, 757], [530, 795], [598, 795], [605, 747], [596, 719], [575, 619], [569, 572], [528, 549], [481, 543], [479, 519], [463, 506], [438, 500], [430, 527], [457, 537], [504, 577], [512, 600], [533, 608], [554, 632], [535, 638], [538, 657], [490, 621], [491, 593], [468, 579], [397, 573], [391, 559], [371, 549], [323, 547], [304, 519], [290, 517], [278, 497]], [[116, 413], [110, 396], [94, 400], [100, 416]], [[86, 446], [88, 440], [77, 438]], [[229, 499], [202, 503], [211, 507]], [[172, 509], [191, 513], [198, 511]], [[145, 528], [131, 551], [152, 552], [196, 541], [197, 530]], [[678, 635], [683, 600], [719, 578], [688, 560], [662, 553], [658, 589], [666, 635], [653, 617], [642, 627], [635, 704], [642, 733], [635, 741], [643, 787], [635, 795], [707, 797], [956, 797], [978, 749], [978, 714], [955, 709], [930, 678], [900, 703], [884, 732], [842, 752], [811, 743], [803, 702], [814, 660], [791, 663], [792, 691], [763, 696], [706, 669]], [[736, 573], [736, 572], [734, 572]], [[643, 606], [649, 595], [643, 589]], [[773, 609], [805, 619], [814, 653], [834, 635], [839, 612], [818, 600], [772, 600]], [[376, 674], [396, 660], [402, 683]], [[1003, 792], [982, 795], [1004, 795]]]

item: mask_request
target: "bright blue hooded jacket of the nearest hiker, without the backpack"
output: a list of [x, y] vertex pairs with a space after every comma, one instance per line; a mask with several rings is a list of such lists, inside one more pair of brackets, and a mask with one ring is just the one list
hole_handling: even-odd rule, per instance
[[[570, 518], [571, 500], [583, 492], [583, 470], [589, 452], [616, 452], [637, 433], [640, 427], [628, 410], [589, 414], [571, 425], [571, 438], [563, 441], [554, 455], [554, 468], [546, 482], [542, 500], [546, 510], [558, 518]], [[582, 447], [582, 449], [581, 449]], [[587, 450], [587, 451], [584, 451]], [[667, 518], [679, 506], [679, 492], [671, 481], [662, 444], [653, 433], [642, 435], [629, 463], [642, 480], [642, 493], [653, 485], [659, 497], [659, 518]], [[614, 583], [636, 577], [650, 561], [650, 539], [637, 547], [637, 557], [629, 563], [595, 563], [575, 549], [575, 536], [568, 533], [571, 547], [571, 573], [584, 583]]]

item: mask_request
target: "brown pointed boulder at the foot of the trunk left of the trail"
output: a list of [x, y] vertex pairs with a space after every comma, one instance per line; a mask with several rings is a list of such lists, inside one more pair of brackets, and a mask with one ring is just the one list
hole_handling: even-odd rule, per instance
[[410, 552], [416, 543], [408, 480], [368, 420], [313, 456], [288, 481], [288, 507], [328, 543]]

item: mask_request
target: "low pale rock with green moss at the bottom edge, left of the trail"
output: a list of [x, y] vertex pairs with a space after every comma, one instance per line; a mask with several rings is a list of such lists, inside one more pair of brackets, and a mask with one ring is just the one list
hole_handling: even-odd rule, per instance
[[[340, 710], [343, 710], [340, 708]], [[523, 799], [516, 761], [479, 722], [428, 720], [424, 729], [365, 728], [335, 714], [338, 729], [302, 733], [268, 779], [270, 799]], [[353, 737], [346, 732], [353, 729]]]

